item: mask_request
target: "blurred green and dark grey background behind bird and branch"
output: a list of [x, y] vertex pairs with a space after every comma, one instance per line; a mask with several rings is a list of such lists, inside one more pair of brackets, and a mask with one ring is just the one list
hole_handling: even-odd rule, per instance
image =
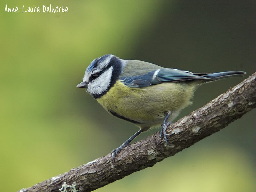
[[[138, 128], [77, 89], [107, 53], [193, 72], [255, 72], [254, 1], [8, 1], [68, 13], [4, 13], [0, 182], [17, 191], [108, 154]], [[209, 83], [185, 116], [244, 78]], [[149, 130], [141, 140], [157, 130]], [[254, 191], [255, 110], [181, 153], [97, 189]]]

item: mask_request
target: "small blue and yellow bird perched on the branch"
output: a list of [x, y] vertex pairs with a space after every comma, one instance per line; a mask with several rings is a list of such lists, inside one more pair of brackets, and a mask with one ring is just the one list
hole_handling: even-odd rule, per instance
[[111, 115], [140, 127], [138, 132], [111, 152], [114, 160], [135, 137], [151, 127], [161, 125], [160, 137], [168, 144], [167, 126], [192, 103], [199, 85], [244, 74], [243, 71], [192, 73], [107, 54], [91, 62], [77, 87], [86, 88]]

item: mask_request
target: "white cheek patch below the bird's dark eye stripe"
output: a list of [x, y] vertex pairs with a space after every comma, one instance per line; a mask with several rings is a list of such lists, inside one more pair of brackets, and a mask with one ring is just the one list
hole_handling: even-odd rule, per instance
[[88, 84], [87, 91], [91, 94], [101, 94], [108, 89], [111, 82], [113, 67], [102, 73], [97, 79]]

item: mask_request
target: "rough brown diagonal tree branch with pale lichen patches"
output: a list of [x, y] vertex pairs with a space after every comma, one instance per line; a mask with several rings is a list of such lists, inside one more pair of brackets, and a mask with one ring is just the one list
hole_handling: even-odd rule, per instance
[[256, 73], [252, 74], [204, 107], [171, 124], [167, 133], [171, 134], [168, 142], [172, 144], [172, 147], [166, 145], [159, 138], [159, 132], [156, 132], [124, 148], [116, 156], [114, 163], [108, 154], [30, 188], [22, 189], [20, 192], [57, 192], [64, 182], [76, 185], [79, 192], [92, 191], [133, 172], [152, 167], [164, 158], [173, 156], [226, 127], [255, 108], [255, 76]]

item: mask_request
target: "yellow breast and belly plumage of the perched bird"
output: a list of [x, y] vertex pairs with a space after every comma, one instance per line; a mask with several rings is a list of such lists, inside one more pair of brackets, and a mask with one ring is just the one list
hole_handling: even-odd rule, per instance
[[194, 84], [162, 83], [144, 88], [129, 88], [121, 81], [97, 101], [112, 115], [147, 130], [160, 125], [167, 111], [169, 120], [191, 103]]

